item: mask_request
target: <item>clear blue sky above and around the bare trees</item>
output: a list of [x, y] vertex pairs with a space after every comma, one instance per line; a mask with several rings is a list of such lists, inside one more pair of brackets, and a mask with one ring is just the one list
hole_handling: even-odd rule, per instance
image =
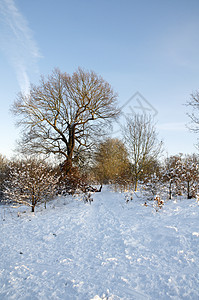
[[121, 106], [139, 92], [169, 155], [196, 152], [183, 104], [199, 88], [198, 15], [198, 0], [0, 0], [0, 153], [10, 157], [19, 138], [17, 93], [78, 66], [107, 80]]

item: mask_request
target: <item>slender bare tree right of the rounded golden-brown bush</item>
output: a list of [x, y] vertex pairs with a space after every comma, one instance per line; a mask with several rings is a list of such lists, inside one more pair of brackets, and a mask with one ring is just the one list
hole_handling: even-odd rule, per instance
[[125, 146], [132, 163], [132, 175], [137, 190], [138, 181], [144, 173], [148, 162], [156, 160], [162, 149], [157, 132], [149, 115], [135, 114], [126, 118], [122, 128]]

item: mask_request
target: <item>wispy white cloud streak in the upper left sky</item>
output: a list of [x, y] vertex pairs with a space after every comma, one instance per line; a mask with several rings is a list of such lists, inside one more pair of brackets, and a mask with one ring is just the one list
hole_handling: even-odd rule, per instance
[[39, 48], [14, 0], [0, 0], [0, 48], [14, 67], [21, 91], [28, 93], [29, 75], [37, 71]]

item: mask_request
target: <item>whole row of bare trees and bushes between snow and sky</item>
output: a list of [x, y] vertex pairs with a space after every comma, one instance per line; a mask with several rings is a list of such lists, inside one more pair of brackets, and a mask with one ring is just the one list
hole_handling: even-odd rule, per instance
[[[192, 95], [188, 105], [198, 108], [198, 99]], [[21, 127], [16, 153], [22, 158], [0, 156], [1, 198], [34, 211], [57, 194], [86, 192], [91, 183], [134, 191], [139, 184], [152, 198], [162, 189], [170, 199], [197, 194], [198, 156], [163, 159], [149, 115], [127, 117], [120, 139], [110, 137], [111, 123], [120, 114], [117, 94], [93, 71], [79, 68], [69, 75], [55, 69], [31, 85], [29, 94], [19, 93], [11, 110]], [[197, 126], [194, 113], [190, 117]]]

